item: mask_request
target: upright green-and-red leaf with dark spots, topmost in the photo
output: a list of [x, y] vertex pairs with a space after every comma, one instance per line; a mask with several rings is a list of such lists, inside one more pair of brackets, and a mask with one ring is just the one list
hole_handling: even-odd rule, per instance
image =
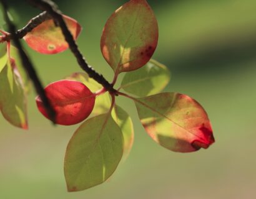
[[101, 52], [116, 73], [136, 70], [152, 57], [158, 42], [154, 12], [145, 0], [130, 0], [108, 19]]

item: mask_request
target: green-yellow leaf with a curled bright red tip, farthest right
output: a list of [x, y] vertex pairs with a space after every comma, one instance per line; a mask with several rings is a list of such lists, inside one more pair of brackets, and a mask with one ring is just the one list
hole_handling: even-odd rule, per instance
[[189, 96], [160, 93], [134, 101], [145, 130], [161, 146], [193, 152], [214, 143], [207, 113]]

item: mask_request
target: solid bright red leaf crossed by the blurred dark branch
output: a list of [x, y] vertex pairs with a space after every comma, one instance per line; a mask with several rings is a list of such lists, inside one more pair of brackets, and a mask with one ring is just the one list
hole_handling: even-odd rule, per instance
[[[86, 119], [94, 108], [95, 96], [78, 81], [61, 80], [45, 88], [46, 96], [56, 111], [56, 124], [73, 125]], [[37, 108], [49, 119], [41, 98], [36, 98]]]

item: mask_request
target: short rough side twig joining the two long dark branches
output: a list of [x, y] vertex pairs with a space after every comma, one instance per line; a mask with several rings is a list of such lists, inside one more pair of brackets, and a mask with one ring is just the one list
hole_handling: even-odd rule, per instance
[[[38, 25], [42, 24], [42, 22], [48, 19], [51, 19], [51, 16], [47, 14], [46, 11], [42, 12], [38, 16], [32, 18], [31, 21], [29, 21], [29, 23], [25, 27], [23, 27], [20, 30], [17, 30], [15, 32], [16, 37], [18, 39], [22, 39], [27, 33], [31, 32], [32, 29], [34, 29]], [[6, 37], [4, 37], [4, 40], [11, 40], [11, 39], [13, 39], [13, 34], [9, 34]]]

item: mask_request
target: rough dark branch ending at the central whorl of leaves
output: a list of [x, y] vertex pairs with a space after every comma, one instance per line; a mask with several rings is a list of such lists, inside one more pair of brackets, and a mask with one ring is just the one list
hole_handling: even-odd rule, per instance
[[77, 62], [79, 63], [82, 70], [84, 70], [91, 78], [96, 80], [98, 83], [100, 83], [104, 88], [106, 88], [107, 91], [110, 93], [116, 93], [116, 90], [113, 88], [113, 85], [109, 83], [104, 76], [97, 73], [91, 66], [89, 66], [83, 57], [82, 53], [78, 49], [78, 46], [76, 44], [76, 41], [74, 40], [71, 32], [67, 28], [67, 25], [62, 18], [61, 11], [57, 9], [56, 4], [52, 2], [51, 0], [27, 0], [29, 1], [33, 6], [38, 7], [42, 11], [47, 11], [51, 16], [52, 19], [56, 22], [56, 24], [61, 27], [62, 34], [64, 35], [67, 44], [69, 44], [69, 49], [71, 49], [72, 53], [77, 59]]

